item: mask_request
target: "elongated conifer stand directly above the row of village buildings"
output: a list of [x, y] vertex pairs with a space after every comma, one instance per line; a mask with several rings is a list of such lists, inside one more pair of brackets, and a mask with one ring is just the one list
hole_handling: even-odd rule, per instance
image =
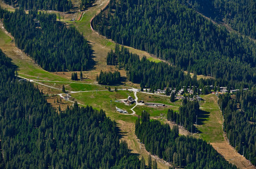
[[154, 63], [129, 52], [128, 48], [115, 46], [115, 52], [107, 55], [107, 64], [117, 65], [118, 69], [127, 71], [128, 80], [141, 84], [141, 87], [150, 87], [152, 90], [166, 86], [181, 88], [184, 85], [194, 85], [197, 79], [167, 63]]

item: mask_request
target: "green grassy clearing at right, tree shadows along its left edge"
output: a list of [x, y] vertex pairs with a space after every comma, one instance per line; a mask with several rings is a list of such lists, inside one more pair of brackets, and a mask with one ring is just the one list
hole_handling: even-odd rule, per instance
[[220, 143], [224, 141], [222, 131], [222, 113], [217, 104], [217, 96], [209, 94], [202, 96], [201, 114], [198, 115], [198, 125], [200, 137], [210, 143]]

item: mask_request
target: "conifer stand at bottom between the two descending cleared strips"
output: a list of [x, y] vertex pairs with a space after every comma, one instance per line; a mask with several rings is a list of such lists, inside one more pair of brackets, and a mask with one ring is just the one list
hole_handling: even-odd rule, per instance
[[135, 134], [151, 154], [158, 155], [175, 167], [184, 168], [236, 168], [202, 139], [179, 136], [179, 127], [171, 130], [169, 124], [151, 120], [142, 112], [135, 124]]

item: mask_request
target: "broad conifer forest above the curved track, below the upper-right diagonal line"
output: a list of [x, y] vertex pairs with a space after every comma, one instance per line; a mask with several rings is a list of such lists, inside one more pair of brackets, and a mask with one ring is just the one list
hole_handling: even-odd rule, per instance
[[256, 82], [256, 45], [177, 0], [111, 0], [92, 21], [107, 38], [154, 54], [189, 72]]

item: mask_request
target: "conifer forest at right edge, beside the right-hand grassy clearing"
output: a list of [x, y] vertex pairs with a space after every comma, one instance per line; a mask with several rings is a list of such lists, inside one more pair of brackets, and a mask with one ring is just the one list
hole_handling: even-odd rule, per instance
[[256, 90], [220, 96], [224, 130], [229, 143], [251, 163], [256, 164]]

